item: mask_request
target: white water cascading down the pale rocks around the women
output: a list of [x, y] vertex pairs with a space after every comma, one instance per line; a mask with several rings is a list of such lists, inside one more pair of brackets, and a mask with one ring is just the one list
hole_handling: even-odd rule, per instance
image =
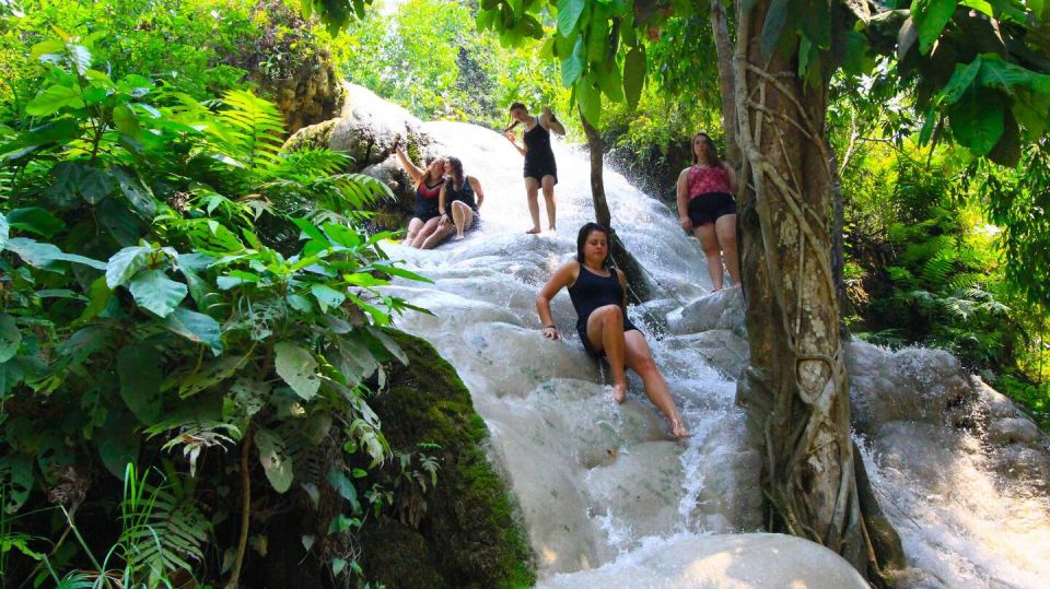
[[[363, 108], [390, 113], [388, 105]], [[393, 121], [387, 127], [402, 125]], [[627, 402], [608, 400], [608, 377], [583, 352], [567, 294], [552, 302], [564, 339], [540, 335], [535, 295], [551, 271], [573, 255], [576, 228], [593, 219], [585, 158], [556, 143], [559, 232], [528, 236], [522, 158], [514, 149], [499, 134], [470, 125], [430, 122], [422, 130], [441, 153], [460, 157], [466, 174], [479, 178], [486, 196], [482, 224], [465, 240], [432, 251], [387, 247], [392, 258], [407, 260], [434, 281], [398, 280], [387, 292], [433, 313], [407, 314], [397, 325], [429, 340], [470, 389], [492, 433], [493, 457], [522, 507], [541, 584], [688, 587], [710, 575], [731, 574], [731, 565], [711, 556], [700, 558], [701, 566], [697, 555], [710, 552], [703, 544], [709, 534], [761, 526], [758, 458], [743, 443], [744, 414], [734, 404], [735, 382], [708, 361], [710, 341], [704, 354], [701, 339], [657, 339], [643, 327], [645, 313], [664, 315], [680, 307], [676, 301], [707, 292], [710, 282], [698, 244], [682, 234], [664, 204], [606, 172], [617, 233], [666, 297], [631, 314], [646, 331], [693, 434], [677, 441], [667, 435], [666, 423], [635, 377]], [[546, 214], [542, 221], [546, 225]], [[672, 313], [670, 319], [675, 317]], [[718, 347], [725, 353], [726, 345]], [[907, 437], [906, 432], [900, 436], [915, 445], [929, 440]], [[876, 452], [887, 448], [875, 447]], [[1045, 502], [996, 491], [993, 476], [965, 448], [945, 453], [957, 470], [937, 481], [922, 479], [929, 474], [921, 468], [910, 468], [908, 461], [915, 457], [906, 451], [885, 462], [865, 457], [887, 514], [901, 529], [910, 564], [930, 573], [912, 579], [922, 586], [1038, 586], [1039, 578], [1050, 574]], [[969, 486], [946, 499], [933, 491], [944, 482]], [[969, 496], [964, 500], [960, 494]], [[996, 528], [1002, 519], [1014, 521]], [[719, 542], [723, 549], [731, 543]], [[762, 567], [783, 559], [784, 546], [769, 549], [769, 557], [757, 544], [734, 550]], [[795, 554], [797, 562], [822, 563], [825, 553]], [[653, 564], [654, 558], [663, 561]], [[839, 561], [809, 573], [829, 587], [855, 584], [849, 570], [842, 573], [847, 576], [832, 575], [832, 564], [844, 563]], [[591, 576], [573, 574], [596, 568]], [[674, 574], [667, 573], [672, 569]], [[793, 578], [805, 578], [797, 575], [803, 577]]]

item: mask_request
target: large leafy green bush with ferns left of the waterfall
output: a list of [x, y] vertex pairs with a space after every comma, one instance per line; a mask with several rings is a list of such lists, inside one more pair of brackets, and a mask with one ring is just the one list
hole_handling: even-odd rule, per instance
[[[96, 467], [121, 476], [128, 463], [159, 463], [158, 452], [190, 475], [215, 457], [201, 486], [230, 493], [215, 464], [238, 447], [231, 472], [247, 479], [257, 453], [276, 493], [331, 490], [348, 503], [329, 533], [351, 533], [368, 506], [345, 461], [323, 452], [336, 444], [365, 464], [386, 458], [368, 399], [384, 363], [405, 355], [378, 327], [410, 306], [377, 287], [422, 280], [387, 260], [386, 234], [361, 228], [360, 210], [388, 190], [332, 174], [339, 154], [282, 152], [279, 114], [249, 93], [198, 103], [141, 75], [114, 80], [83, 43], [33, 47], [44, 84], [26, 118], [0, 128], [4, 510], [46, 493], [70, 514], [60, 528], [74, 530]], [[163, 486], [140, 483], [152, 510], [122, 518], [119, 558], [137, 561], [137, 584], [199, 561], [211, 522], [230, 515], [214, 502], [205, 509], [197, 483], [168, 470]], [[205, 515], [173, 519], [176, 505]], [[150, 538], [182, 549], [128, 547]]]

